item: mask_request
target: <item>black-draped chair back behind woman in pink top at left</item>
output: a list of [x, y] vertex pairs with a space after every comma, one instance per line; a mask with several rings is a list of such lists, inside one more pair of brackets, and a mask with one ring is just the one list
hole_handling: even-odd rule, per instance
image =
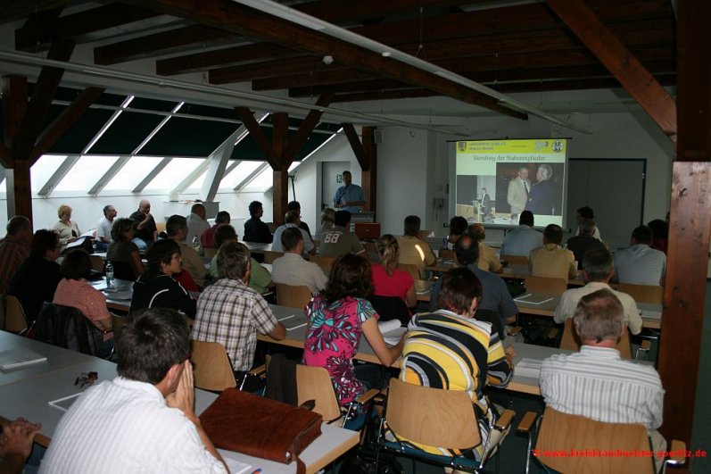
[[36, 337], [79, 353], [99, 355], [103, 333], [82, 312], [71, 306], [45, 302], [37, 316]]

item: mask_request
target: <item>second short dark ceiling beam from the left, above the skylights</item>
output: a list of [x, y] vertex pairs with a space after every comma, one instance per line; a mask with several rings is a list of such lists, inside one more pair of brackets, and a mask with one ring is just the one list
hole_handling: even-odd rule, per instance
[[[145, 2], [139, 2], [139, 4], [149, 6]], [[136, 37], [112, 45], [99, 46], [94, 49], [94, 62], [107, 66], [162, 54], [185, 53], [194, 50], [195, 47], [219, 46], [236, 43], [240, 40], [244, 40], [244, 38], [224, 29], [193, 25]]]

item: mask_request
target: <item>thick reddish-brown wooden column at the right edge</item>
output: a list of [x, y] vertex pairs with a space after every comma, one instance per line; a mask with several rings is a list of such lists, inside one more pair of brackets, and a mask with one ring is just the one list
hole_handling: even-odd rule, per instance
[[[709, 2], [679, 2], [679, 133], [673, 169], [659, 375], [666, 389], [666, 439], [691, 445], [711, 234], [711, 37]], [[699, 440], [695, 441], [699, 443]], [[700, 446], [699, 446], [700, 447]], [[692, 460], [687, 460], [692, 462]]]

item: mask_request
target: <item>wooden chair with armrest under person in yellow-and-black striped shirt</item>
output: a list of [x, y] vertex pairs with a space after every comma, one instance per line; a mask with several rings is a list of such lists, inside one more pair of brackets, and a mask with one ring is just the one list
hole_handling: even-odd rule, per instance
[[[496, 425], [492, 427], [490, 441], [494, 445], [499, 445], [506, 436], [515, 415], [511, 410], [501, 413]], [[477, 420], [472, 410], [472, 400], [464, 390], [420, 387], [391, 378], [384, 418], [396, 438], [405, 438], [420, 445], [466, 451], [482, 442], [476, 428]], [[496, 432], [502, 436], [498, 436]], [[401, 454], [425, 457], [452, 469], [478, 470], [486, 462], [487, 454], [492, 453], [494, 445], [484, 445], [481, 462], [462, 456], [427, 454], [399, 441], [384, 441], [382, 434], [378, 449], [382, 446]]]

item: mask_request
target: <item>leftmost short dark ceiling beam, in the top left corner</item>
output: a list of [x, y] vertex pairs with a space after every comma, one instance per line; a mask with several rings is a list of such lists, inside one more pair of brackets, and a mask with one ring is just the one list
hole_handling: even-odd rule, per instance
[[54, 39], [60, 37], [71, 38], [80, 45], [126, 34], [126, 31], [134, 33], [176, 21], [168, 15], [121, 3], [102, 5], [53, 21], [46, 21], [43, 13], [33, 13], [22, 28], [15, 30], [15, 49], [45, 51]]

